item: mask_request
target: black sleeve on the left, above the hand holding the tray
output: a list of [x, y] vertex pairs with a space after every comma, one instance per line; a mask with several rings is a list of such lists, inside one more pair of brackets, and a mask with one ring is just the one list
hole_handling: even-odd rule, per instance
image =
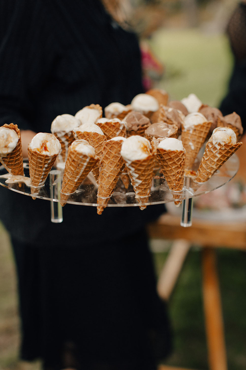
[[42, 1], [0, 0], [0, 125], [35, 130], [35, 105], [55, 58], [45, 17]]

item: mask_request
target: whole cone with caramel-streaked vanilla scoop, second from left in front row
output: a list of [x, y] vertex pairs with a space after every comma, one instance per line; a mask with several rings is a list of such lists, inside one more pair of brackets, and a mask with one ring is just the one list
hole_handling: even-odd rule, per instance
[[[38, 140], [38, 145], [37, 145]], [[39, 132], [28, 144], [29, 173], [31, 194], [39, 193], [56, 161], [60, 151], [60, 142], [55, 135]], [[35, 197], [33, 197], [35, 199]]]

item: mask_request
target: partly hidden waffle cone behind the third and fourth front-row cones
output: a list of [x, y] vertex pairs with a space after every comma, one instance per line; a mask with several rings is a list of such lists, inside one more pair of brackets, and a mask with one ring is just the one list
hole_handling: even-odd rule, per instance
[[[106, 140], [105, 135], [98, 134], [98, 132], [91, 132], [91, 131], [75, 131], [76, 139], [83, 139], [89, 142], [90, 145], [93, 146], [95, 149], [96, 155], [100, 158], [101, 151], [102, 151], [102, 144]], [[98, 177], [99, 177], [99, 162], [97, 162], [92, 171], [93, 176], [98, 184]]]

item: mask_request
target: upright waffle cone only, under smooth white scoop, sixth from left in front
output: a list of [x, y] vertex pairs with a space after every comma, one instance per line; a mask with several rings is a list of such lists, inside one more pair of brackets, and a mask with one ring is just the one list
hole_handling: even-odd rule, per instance
[[[184, 167], [186, 152], [183, 150], [165, 150], [157, 148], [156, 158], [171, 191], [182, 191], [184, 185]], [[174, 199], [179, 195], [173, 194]], [[179, 205], [181, 201], [174, 202]]]

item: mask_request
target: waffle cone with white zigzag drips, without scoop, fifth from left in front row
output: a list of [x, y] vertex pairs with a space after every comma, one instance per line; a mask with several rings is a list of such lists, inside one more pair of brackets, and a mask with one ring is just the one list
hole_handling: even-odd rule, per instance
[[153, 154], [145, 159], [129, 162], [125, 161], [125, 166], [129, 178], [131, 179], [140, 209], [146, 208], [145, 203], [148, 202], [149, 199], [154, 163], [155, 156]]

